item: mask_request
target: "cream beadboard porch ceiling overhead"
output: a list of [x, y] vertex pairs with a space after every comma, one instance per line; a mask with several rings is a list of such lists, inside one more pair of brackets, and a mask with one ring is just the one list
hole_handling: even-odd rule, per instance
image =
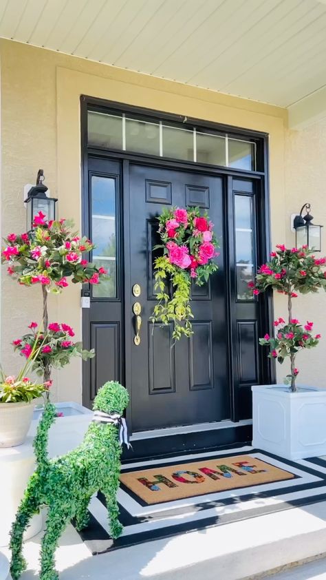
[[325, 32], [326, 0], [0, 0], [0, 37], [290, 110], [326, 101]]

